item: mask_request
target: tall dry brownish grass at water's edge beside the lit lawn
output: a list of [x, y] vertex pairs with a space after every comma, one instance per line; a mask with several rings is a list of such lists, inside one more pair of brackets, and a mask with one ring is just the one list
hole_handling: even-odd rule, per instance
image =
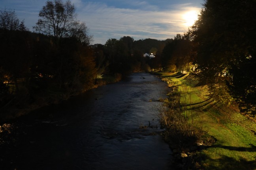
[[194, 120], [192, 110], [187, 107], [191, 103], [191, 97], [188, 101], [188, 88], [173, 82], [168, 84], [172, 92], [169, 93], [168, 100], [162, 102], [160, 123], [166, 129], [164, 137], [170, 147], [182, 151], [196, 144], [203, 135], [203, 130], [201, 123]]

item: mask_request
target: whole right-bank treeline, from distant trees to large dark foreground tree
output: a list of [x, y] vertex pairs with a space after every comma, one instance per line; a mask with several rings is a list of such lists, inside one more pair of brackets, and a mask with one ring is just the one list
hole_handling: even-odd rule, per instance
[[255, 1], [206, 0], [198, 20], [166, 44], [162, 67], [186, 70], [219, 104], [256, 116]]

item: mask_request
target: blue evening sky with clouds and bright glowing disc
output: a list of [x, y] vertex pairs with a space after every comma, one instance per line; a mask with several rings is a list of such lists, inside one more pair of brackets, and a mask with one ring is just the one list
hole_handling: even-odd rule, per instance
[[[30, 31], [47, 0], [0, 0], [0, 9], [15, 10]], [[63, 0], [65, 2], [66, 0]], [[165, 40], [183, 34], [196, 19], [203, 0], [70, 0], [85, 22], [92, 44], [124, 36]]]

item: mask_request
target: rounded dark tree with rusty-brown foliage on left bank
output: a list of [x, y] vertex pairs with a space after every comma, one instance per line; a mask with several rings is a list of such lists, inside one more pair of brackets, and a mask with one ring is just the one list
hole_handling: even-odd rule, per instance
[[93, 50], [76, 39], [66, 38], [61, 43], [59, 56], [62, 66], [59, 70], [61, 87], [72, 92], [90, 89], [97, 76]]

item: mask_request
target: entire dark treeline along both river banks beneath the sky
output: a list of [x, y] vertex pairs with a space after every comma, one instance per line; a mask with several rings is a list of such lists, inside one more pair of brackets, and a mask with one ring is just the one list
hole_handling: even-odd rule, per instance
[[124, 36], [94, 45], [70, 1], [47, 1], [36, 33], [15, 11], [1, 10], [0, 112], [59, 102], [131, 72], [164, 70], [190, 72], [207, 85], [209, 97], [226, 105], [237, 102], [243, 113], [255, 116], [254, 6], [254, 1], [206, 0], [184, 35], [165, 41]]

